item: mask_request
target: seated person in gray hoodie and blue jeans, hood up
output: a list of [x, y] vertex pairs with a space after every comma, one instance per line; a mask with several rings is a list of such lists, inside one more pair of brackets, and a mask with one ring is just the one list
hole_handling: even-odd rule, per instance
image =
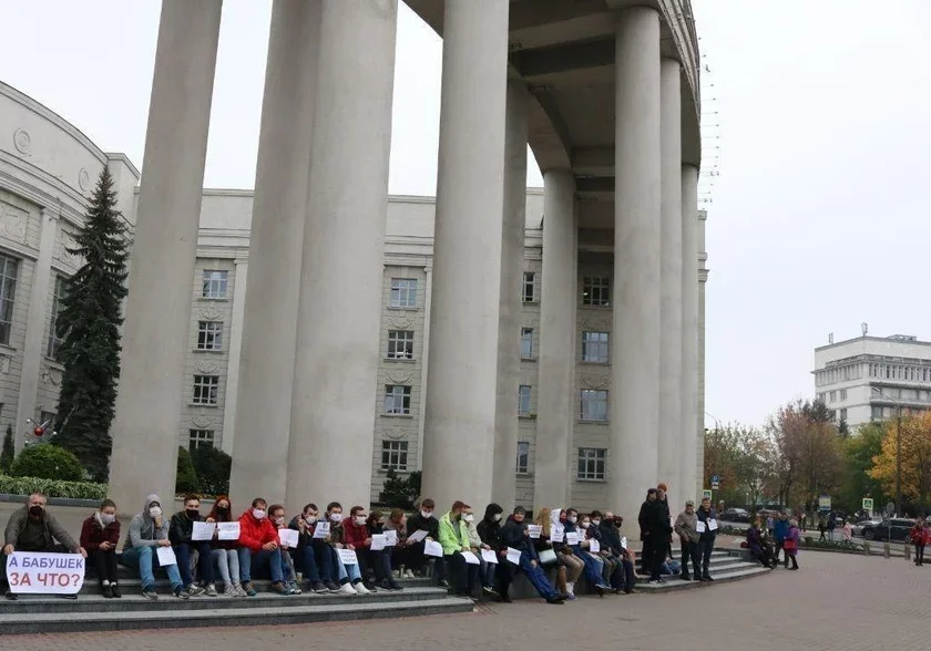
[[[133, 516], [130, 531], [123, 541], [123, 556], [120, 562], [139, 569], [142, 579], [142, 596], [152, 601], [158, 599], [153, 574], [154, 569], [160, 567], [156, 549], [158, 547], [171, 549], [170, 525], [168, 518], [162, 513], [162, 499], [157, 495], [149, 495], [142, 505], [142, 513]], [[190, 596], [184, 590], [177, 564], [165, 566], [164, 570], [168, 575], [175, 597], [187, 599]]]

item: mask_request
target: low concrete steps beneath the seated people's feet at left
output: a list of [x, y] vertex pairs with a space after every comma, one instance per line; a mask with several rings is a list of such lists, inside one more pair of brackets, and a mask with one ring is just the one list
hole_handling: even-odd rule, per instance
[[[243, 603], [244, 600], [237, 600]], [[80, 602], [80, 599], [79, 599]], [[72, 604], [74, 602], [71, 602]], [[296, 624], [320, 621], [345, 621], [396, 617], [472, 612], [469, 599], [443, 597], [386, 602], [367, 598], [346, 598], [345, 602], [318, 606], [308, 603], [293, 608], [250, 606], [197, 610], [191, 617], [186, 603], [175, 601], [171, 610], [113, 612], [8, 612], [0, 604], [0, 631], [4, 634], [61, 633], [78, 631], [122, 631], [135, 629], [203, 628], [262, 624]]]

